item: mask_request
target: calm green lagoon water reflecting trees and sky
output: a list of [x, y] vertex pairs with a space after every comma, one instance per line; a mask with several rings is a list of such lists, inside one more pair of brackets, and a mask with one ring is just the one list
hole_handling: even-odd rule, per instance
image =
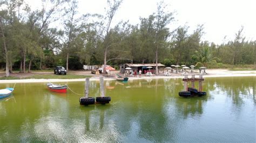
[[[62, 84], [84, 92], [84, 82]], [[17, 83], [0, 100], [0, 142], [255, 142], [256, 76], [206, 78], [205, 97], [179, 97], [180, 78], [105, 81], [105, 88], [110, 104], [80, 106], [70, 90]], [[90, 96], [100, 96], [99, 82]]]

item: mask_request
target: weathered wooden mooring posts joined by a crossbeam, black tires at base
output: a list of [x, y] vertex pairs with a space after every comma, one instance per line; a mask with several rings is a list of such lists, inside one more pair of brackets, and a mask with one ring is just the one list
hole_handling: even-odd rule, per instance
[[[196, 78], [196, 76], [193, 74], [191, 75], [191, 78], [188, 78], [188, 75], [185, 75], [184, 78], [182, 79], [184, 81], [184, 90], [179, 92], [179, 96], [182, 97], [190, 97], [190, 96], [204, 96], [206, 95], [206, 92], [202, 91], [203, 90], [203, 75], [200, 74], [199, 78]], [[192, 87], [187, 87], [187, 82], [191, 81]], [[194, 82], [199, 82], [199, 88], [196, 89], [194, 88]]]

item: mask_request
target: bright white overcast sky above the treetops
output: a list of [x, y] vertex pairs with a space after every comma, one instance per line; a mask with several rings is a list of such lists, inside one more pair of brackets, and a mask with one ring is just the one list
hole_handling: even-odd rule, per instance
[[[40, 0], [27, 0], [33, 7], [41, 5]], [[147, 18], [157, 9], [159, 0], [123, 0], [113, 19], [113, 24], [121, 20], [139, 24], [139, 18]], [[256, 0], [164, 0], [166, 10], [174, 12], [174, 22], [170, 30], [179, 26], [189, 26], [188, 32], [204, 25], [202, 40], [221, 44], [235, 38], [235, 33], [244, 26], [242, 35], [246, 40], [256, 40]], [[79, 0], [79, 13], [99, 13], [104, 15], [106, 0]]]

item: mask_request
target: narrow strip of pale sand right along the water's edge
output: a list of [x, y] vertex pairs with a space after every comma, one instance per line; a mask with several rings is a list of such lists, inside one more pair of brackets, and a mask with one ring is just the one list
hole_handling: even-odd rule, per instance
[[[196, 77], [199, 75], [196, 74]], [[204, 78], [208, 77], [244, 77], [244, 76], [256, 76], [254, 74], [209, 74], [203, 75]], [[164, 79], [164, 78], [183, 78], [184, 76], [177, 75], [177, 76], [142, 76], [142, 77], [129, 77], [129, 80], [143, 80], [143, 79]], [[188, 75], [191, 77], [191, 75]], [[116, 80], [114, 77], [104, 77], [104, 80]], [[78, 81], [85, 81], [85, 78], [77, 78], [77, 79], [24, 79], [24, 80], [0, 80], [1, 83], [41, 83], [41, 82], [78, 82]], [[91, 77], [90, 81], [99, 81], [99, 77]]]

